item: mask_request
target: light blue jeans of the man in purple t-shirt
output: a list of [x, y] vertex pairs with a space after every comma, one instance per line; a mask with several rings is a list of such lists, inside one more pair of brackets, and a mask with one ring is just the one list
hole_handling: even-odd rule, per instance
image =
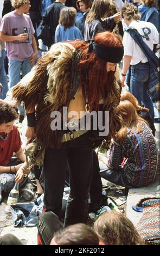
[[[20, 71], [22, 68], [22, 76], [25, 76], [30, 72], [31, 65], [29, 63], [30, 59], [25, 59], [23, 61], [18, 60], [9, 60], [8, 66], [8, 75], [9, 75], [9, 83], [10, 88], [15, 86], [18, 82], [21, 80]], [[21, 105], [18, 105], [18, 109], [20, 112], [20, 115], [24, 115], [24, 108]]]

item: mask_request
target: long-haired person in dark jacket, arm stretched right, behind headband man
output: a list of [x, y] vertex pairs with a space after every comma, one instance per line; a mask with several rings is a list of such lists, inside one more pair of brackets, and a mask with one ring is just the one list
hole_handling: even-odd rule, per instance
[[97, 33], [106, 31], [108, 26], [111, 26], [114, 22], [121, 20], [120, 13], [116, 13], [113, 16], [106, 18], [106, 14], [109, 10], [110, 1], [97, 0], [93, 2], [91, 10], [89, 11], [85, 21], [85, 41], [93, 40]]

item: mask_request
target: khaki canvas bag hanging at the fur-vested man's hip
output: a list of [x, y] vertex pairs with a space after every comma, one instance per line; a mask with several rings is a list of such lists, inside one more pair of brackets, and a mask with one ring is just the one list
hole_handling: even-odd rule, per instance
[[44, 154], [45, 148], [38, 141], [37, 138], [33, 140], [30, 144], [25, 148], [25, 159], [27, 162], [27, 166], [30, 169], [31, 165], [34, 164], [36, 166], [43, 166], [44, 162]]

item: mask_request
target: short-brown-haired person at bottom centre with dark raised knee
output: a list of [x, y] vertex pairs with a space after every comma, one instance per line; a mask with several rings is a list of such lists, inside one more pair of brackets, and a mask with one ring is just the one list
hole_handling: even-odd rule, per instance
[[53, 212], [44, 212], [37, 222], [42, 245], [98, 245], [97, 234], [86, 224], [78, 223], [63, 228]]

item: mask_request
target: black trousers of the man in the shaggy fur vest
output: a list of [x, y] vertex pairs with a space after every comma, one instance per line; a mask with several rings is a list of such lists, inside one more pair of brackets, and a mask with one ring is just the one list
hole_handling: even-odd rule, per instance
[[44, 204], [61, 218], [66, 165], [69, 164], [70, 187], [65, 226], [87, 223], [88, 193], [92, 180], [93, 149], [90, 132], [64, 142], [60, 149], [46, 149], [44, 157]]

